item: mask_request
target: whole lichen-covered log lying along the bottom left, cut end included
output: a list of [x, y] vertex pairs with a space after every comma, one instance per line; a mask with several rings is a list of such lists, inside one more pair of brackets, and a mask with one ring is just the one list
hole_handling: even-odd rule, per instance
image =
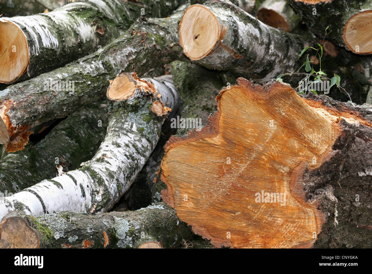
[[0, 224], [0, 248], [171, 248], [191, 235], [164, 203], [97, 215], [65, 211], [34, 217], [13, 211]]

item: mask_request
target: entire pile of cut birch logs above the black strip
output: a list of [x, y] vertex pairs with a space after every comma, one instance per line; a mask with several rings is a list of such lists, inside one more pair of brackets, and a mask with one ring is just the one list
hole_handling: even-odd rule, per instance
[[369, 1], [20, 5], [0, 248], [372, 247]]

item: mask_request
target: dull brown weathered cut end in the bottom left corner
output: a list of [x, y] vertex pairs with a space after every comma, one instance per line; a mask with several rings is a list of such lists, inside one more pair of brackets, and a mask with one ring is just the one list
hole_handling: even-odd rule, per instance
[[4, 217], [0, 224], [0, 248], [39, 248], [38, 233], [17, 215]]

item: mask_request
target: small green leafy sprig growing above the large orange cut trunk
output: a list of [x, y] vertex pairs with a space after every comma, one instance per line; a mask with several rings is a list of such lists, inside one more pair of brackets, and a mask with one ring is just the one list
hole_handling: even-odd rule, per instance
[[[322, 44], [323, 44], [325, 38], [327, 37], [327, 35], [330, 34], [330, 32], [327, 33], [328, 28], [329, 28], [329, 26], [327, 26], [327, 28], [325, 29], [325, 36], [323, 38]], [[299, 54], [299, 56], [297, 58], [297, 60], [300, 59], [301, 56], [303, 56], [304, 53], [309, 49], [315, 50], [316, 51], [315, 56], [317, 56], [317, 58], [319, 60], [319, 69], [317, 71], [314, 69], [315, 60], [309, 60], [309, 54], [308, 54], [306, 56], [305, 62], [301, 65], [301, 67], [296, 72], [282, 73], [276, 78], [276, 80], [280, 81], [280, 82], [283, 82], [282, 77], [285, 76], [285, 75], [303, 75], [304, 78], [302, 78], [301, 81], [299, 81], [297, 88], [295, 88], [295, 90], [298, 90], [297, 91], [298, 94], [305, 94], [306, 91], [311, 91], [311, 92], [314, 92], [315, 94], [318, 94], [317, 91], [315, 90], [314, 86], [317, 86], [317, 85], [319, 86], [319, 84], [321, 84], [321, 86], [323, 87], [323, 82], [324, 81], [327, 82], [327, 84], [329, 84], [327, 86], [327, 92], [325, 92], [325, 90], [323, 89], [324, 94], [328, 94], [329, 89], [334, 85], [336, 85], [337, 88], [340, 91], [343, 90], [344, 92], [346, 92], [346, 90], [342, 86], [340, 86], [341, 78], [340, 78], [339, 75], [334, 74], [333, 77], [329, 78], [329, 77], [327, 77], [327, 74], [322, 71], [321, 60], [322, 60], [322, 57], [323, 57], [323, 46], [320, 43], [317, 43], [317, 45], [318, 45], [318, 48], [305, 47], [301, 51], [301, 53]], [[300, 72], [303, 67], [305, 67], [305, 72]], [[310, 88], [308, 88], [308, 83], [309, 82], [311, 83]], [[346, 94], [349, 95], [347, 92], [346, 92]], [[350, 95], [349, 95], [349, 98], [350, 98]], [[350, 98], [350, 102], [351, 102], [351, 98]]]

